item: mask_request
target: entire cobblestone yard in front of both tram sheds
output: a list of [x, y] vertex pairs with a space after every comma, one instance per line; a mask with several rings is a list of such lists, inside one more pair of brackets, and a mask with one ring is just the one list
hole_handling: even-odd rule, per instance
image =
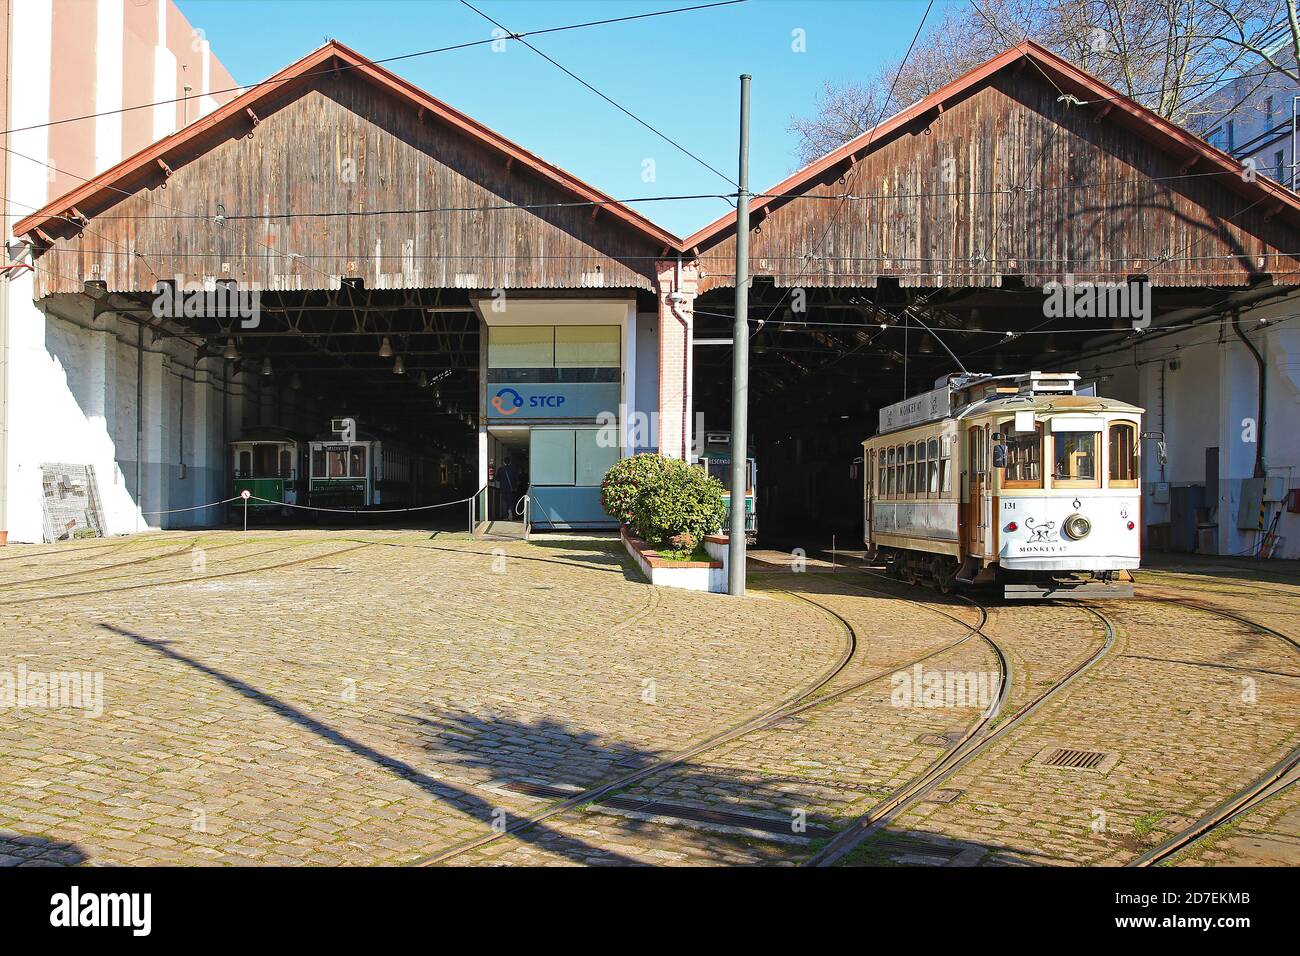
[[[797, 864], [979, 721], [979, 695], [900, 697], [911, 662], [996, 693], [997, 659], [968, 601], [753, 557], [732, 601], [650, 588], [580, 538], [0, 550], [0, 674], [104, 675], [100, 717], [0, 710], [0, 862], [411, 862], [792, 698], [852, 628], [823, 704], [452, 860]], [[1174, 600], [1294, 633], [1300, 587], [1251, 574], [1144, 571], [1140, 600], [1097, 605], [1117, 628], [1097, 666], [848, 862], [1122, 864], [1243, 787], [1300, 743], [1300, 654]], [[1105, 641], [1070, 604], [993, 604], [983, 632], [1010, 662], [1004, 719]], [[1105, 757], [1044, 766], [1060, 748]], [[1175, 862], [1300, 862], [1297, 790]]]

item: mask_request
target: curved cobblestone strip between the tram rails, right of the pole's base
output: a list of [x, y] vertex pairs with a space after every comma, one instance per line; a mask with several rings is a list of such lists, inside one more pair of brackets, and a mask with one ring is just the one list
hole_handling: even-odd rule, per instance
[[[564, 834], [581, 836], [595, 847], [616, 847], [623, 861], [642, 864], [794, 862], [816, 845], [800, 832], [835, 830], [867, 810], [924, 769], [946, 745], [942, 735], [959, 736], [989, 702], [897, 706], [890, 676], [902, 665], [933, 653], [926, 671], [984, 675], [991, 679], [985, 687], [996, 696], [997, 669], [988, 646], [967, 640], [949, 648], [968, 633], [963, 619], [978, 622], [968, 606], [945, 602], [944, 610], [958, 618], [950, 620], [887, 593], [864, 591], [862, 585], [870, 588], [870, 583], [850, 574], [758, 576], [751, 588], [777, 584], [816, 601], [824, 613], [842, 615], [859, 635], [858, 653], [826, 687], [828, 693], [878, 679], [627, 788], [621, 796], [650, 805], [645, 812], [611, 814], [593, 806], [566, 814], [552, 822], [558, 844]], [[653, 805], [722, 810], [750, 822], [764, 821], [784, 832], [755, 835], [737, 819], [711, 831], [681, 818], [668, 825], [653, 819]], [[796, 822], [806, 829], [796, 831]], [[555, 857], [546, 842], [524, 845], [502, 840], [462, 862], [529, 865], [556, 862]], [[590, 861], [607, 860], [593, 855]]]

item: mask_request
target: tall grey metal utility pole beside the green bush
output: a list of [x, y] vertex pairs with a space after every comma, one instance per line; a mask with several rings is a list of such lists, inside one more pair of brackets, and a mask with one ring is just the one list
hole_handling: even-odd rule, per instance
[[732, 324], [732, 512], [727, 593], [745, 596], [745, 492], [749, 472], [749, 81], [740, 77], [740, 176], [736, 193], [736, 320]]

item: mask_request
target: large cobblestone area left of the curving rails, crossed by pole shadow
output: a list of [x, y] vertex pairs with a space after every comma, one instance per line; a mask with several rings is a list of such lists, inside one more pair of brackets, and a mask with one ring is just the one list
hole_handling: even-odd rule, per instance
[[814, 611], [650, 588], [612, 542], [10, 546], [0, 674], [101, 675], [103, 713], [0, 709], [0, 862], [408, 862], [532, 805], [499, 779], [592, 783], [792, 696], [842, 652]]

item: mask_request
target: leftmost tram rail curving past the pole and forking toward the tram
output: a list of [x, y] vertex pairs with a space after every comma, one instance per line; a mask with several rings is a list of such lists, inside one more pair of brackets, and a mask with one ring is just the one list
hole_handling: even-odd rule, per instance
[[[915, 656], [915, 657], [911, 657], [911, 658], [909, 658], [906, 661], [894, 662], [892, 665], [881, 667], [879, 671], [871, 674], [867, 678], [862, 678], [862, 679], [854, 680], [854, 682], [852, 682], [852, 683], [849, 683], [849, 684], [846, 684], [844, 687], [836, 688], [835, 691], [831, 691], [828, 693], [822, 693], [822, 691], [824, 691], [841, 672], [845, 671], [845, 669], [848, 669], [850, 666], [850, 663], [853, 663], [854, 657], [857, 656], [858, 649], [861, 646], [858, 632], [853, 627], [853, 624], [842, 614], [840, 614], [838, 611], [836, 611], [833, 607], [831, 607], [831, 606], [828, 606], [828, 605], [826, 605], [826, 604], [823, 604], [820, 601], [816, 601], [816, 600], [809, 597], [807, 594], [802, 594], [802, 593], [798, 593], [796, 591], [790, 591], [788, 588], [776, 587], [774, 589], [779, 591], [781, 593], [785, 593], [785, 594], [788, 594], [788, 596], [790, 596], [790, 597], [793, 597], [796, 600], [803, 601], [805, 604], [810, 604], [810, 605], [820, 609], [822, 611], [824, 611], [824, 613], [829, 614], [832, 618], [835, 618], [840, 623], [840, 626], [845, 630], [845, 633], [846, 633], [846, 636], [849, 639], [849, 645], [848, 645], [846, 653], [836, 662], [836, 665], [828, 672], [823, 674], [812, 684], [810, 684], [809, 687], [803, 688], [793, 698], [789, 698], [789, 700], [786, 700], [783, 704], [779, 704], [779, 705], [776, 705], [774, 708], [770, 708], [768, 710], [763, 711], [762, 714], [759, 714], [759, 715], [757, 715], [754, 718], [750, 718], [748, 721], [744, 721], [742, 723], [736, 724], [734, 727], [731, 727], [731, 728], [728, 728], [725, 731], [722, 731], [720, 734], [716, 734], [716, 735], [712, 735], [710, 737], [706, 737], [705, 740], [698, 741], [697, 744], [693, 744], [693, 745], [690, 745], [690, 747], [688, 747], [688, 748], [685, 748], [682, 750], [679, 750], [679, 752], [676, 752], [676, 753], [673, 753], [673, 754], [671, 754], [671, 756], [668, 756], [668, 757], [666, 757], [663, 760], [659, 760], [659, 761], [656, 761], [654, 763], [650, 763], [647, 766], [638, 767], [638, 769], [636, 769], [633, 771], [623, 774], [623, 775], [618, 777], [616, 779], [612, 779], [612, 780], [608, 780], [606, 783], [597, 784], [595, 787], [590, 787], [588, 790], [584, 790], [584, 791], [580, 791], [577, 793], [573, 793], [572, 796], [569, 796], [569, 797], [567, 797], [567, 799], [564, 799], [564, 800], [562, 800], [559, 803], [555, 803], [555, 804], [552, 804], [551, 806], [549, 806], [549, 808], [546, 808], [543, 810], [540, 810], [537, 813], [533, 813], [533, 814], [529, 814], [526, 817], [519, 818], [515, 823], [507, 825], [500, 831], [494, 831], [491, 834], [484, 834], [482, 836], [474, 838], [472, 840], [467, 840], [467, 842], [463, 842], [463, 843], [456, 844], [454, 847], [447, 847], [447, 848], [445, 848], [442, 851], [438, 851], [438, 852], [436, 852], [436, 853], [433, 853], [433, 855], [430, 855], [428, 857], [424, 857], [424, 858], [416, 861], [415, 865], [417, 865], [417, 866], [432, 866], [432, 865], [447, 862], [448, 860], [452, 860], [454, 857], [458, 857], [458, 856], [460, 856], [463, 853], [467, 853], [467, 852], [471, 852], [473, 849], [478, 849], [481, 847], [485, 847], [485, 845], [488, 845], [490, 843], [494, 843], [494, 842], [497, 842], [497, 840], [499, 840], [499, 839], [502, 839], [502, 838], [504, 838], [504, 836], [507, 836], [510, 834], [517, 834], [517, 832], [521, 832], [524, 830], [528, 830], [528, 829], [530, 829], [533, 826], [537, 826], [538, 823], [542, 823], [542, 822], [545, 822], [547, 819], [551, 819], [551, 818], [554, 818], [556, 816], [567, 813], [568, 810], [577, 809], [578, 806], [582, 806], [582, 805], [586, 805], [586, 804], [598, 804], [598, 803], [601, 803], [601, 800], [603, 797], [611, 796], [612, 793], [615, 793], [618, 791], [621, 791], [625, 787], [630, 787], [630, 786], [633, 786], [633, 784], [636, 784], [636, 783], [638, 783], [638, 782], [641, 782], [641, 780], [644, 780], [644, 779], [646, 779], [646, 778], [649, 778], [649, 777], [651, 777], [654, 774], [663, 773], [664, 770], [671, 770], [671, 769], [673, 769], [676, 766], [680, 766], [681, 763], [684, 763], [684, 762], [686, 762], [686, 761], [689, 761], [689, 760], [692, 760], [694, 757], [698, 757], [702, 753], [706, 753], [708, 750], [716, 749], [718, 747], [722, 747], [724, 744], [728, 744], [728, 743], [732, 743], [734, 740], [738, 740], [740, 737], [744, 737], [744, 736], [746, 736], [749, 734], [753, 734], [753, 732], [757, 732], [759, 730], [764, 730], [767, 727], [771, 727], [772, 724], [777, 723], [779, 721], [784, 721], [786, 718], [796, 717], [798, 714], [806, 713], [806, 711], [809, 711], [809, 710], [811, 710], [814, 708], [820, 708], [820, 706], [823, 706], [826, 704], [829, 704], [832, 701], [841, 700], [842, 697], [845, 697], [845, 696], [848, 696], [850, 693], [854, 693], [855, 691], [859, 691], [859, 689], [862, 689], [862, 688], [864, 688], [864, 687], [867, 687], [870, 684], [874, 684], [874, 683], [876, 683], [879, 680], [883, 680], [883, 679], [888, 678], [892, 674], [896, 674], [901, 669], [911, 667], [914, 665], [923, 663], [924, 661], [928, 661], [932, 657], [936, 657], [939, 654], [944, 654], [944, 653], [946, 653], [946, 652], [949, 652], [949, 650], [952, 650], [952, 649], [954, 649], [954, 648], [965, 644], [966, 641], [971, 640], [975, 636], [984, 636], [982, 633], [982, 628], [983, 628], [983, 626], [984, 626], [984, 623], [987, 620], [987, 611], [983, 607], [980, 607], [979, 605], [975, 605], [976, 609], [979, 610], [979, 622], [975, 623], [974, 626], [970, 622], [965, 622], [965, 620], [962, 620], [961, 618], [958, 618], [956, 615], [948, 614], [945, 611], [940, 611], [940, 614], [942, 617], [945, 617], [945, 618], [948, 618], [948, 619], [950, 619], [950, 620], [961, 624], [965, 628], [965, 633], [962, 633], [961, 637], [958, 637], [956, 640], [952, 640], [952, 641], [948, 641], [942, 646], [927, 650], [924, 654]], [[876, 592], [876, 593], [885, 594], [885, 592]], [[885, 594], [885, 596], [887, 597], [896, 597], [893, 594]], [[896, 598], [896, 600], [904, 600], [904, 601], [906, 601], [906, 598]], [[930, 607], [928, 605], [922, 605], [920, 602], [915, 602], [915, 601], [909, 601], [909, 602], [910, 604], [918, 604], [922, 607]], [[984, 639], [988, 640], [987, 636], [984, 636]], [[991, 641], [991, 644], [992, 644], [992, 641]], [[1005, 657], [1001, 656], [1000, 649], [996, 649], [996, 652], [998, 653], [1000, 659], [1004, 663], [1006, 663], [1005, 662]], [[1009, 667], [1009, 665], [1006, 665], [1006, 666]], [[1005, 671], [1005, 672], [1008, 675], [1010, 674], [1009, 670]], [[1009, 679], [1004, 682], [1004, 687], [1010, 687], [1010, 680]], [[1005, 693], [1005, 691], [1004, 691], [1004, 693]], [[1000, 697], [1002, 695], [1000, 695]]]

